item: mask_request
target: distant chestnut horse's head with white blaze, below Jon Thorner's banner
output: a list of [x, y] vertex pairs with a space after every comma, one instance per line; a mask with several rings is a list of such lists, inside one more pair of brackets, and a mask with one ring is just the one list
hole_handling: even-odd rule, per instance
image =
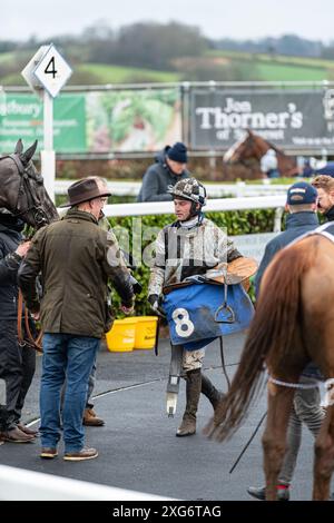
[[247, 129], [246, 135], [225, 152], [223, 159], [226, 164], [244, 162], [249, 158], [259, 160], [268, 148], [263, 138]]

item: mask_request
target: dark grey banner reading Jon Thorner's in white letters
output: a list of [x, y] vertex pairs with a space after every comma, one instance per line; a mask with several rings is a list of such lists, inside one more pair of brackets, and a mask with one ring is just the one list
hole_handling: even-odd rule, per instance
[[334, 89], [194, 88], [190, 147], [227, 149], [253, 130], [283, 149], [334, 149]]

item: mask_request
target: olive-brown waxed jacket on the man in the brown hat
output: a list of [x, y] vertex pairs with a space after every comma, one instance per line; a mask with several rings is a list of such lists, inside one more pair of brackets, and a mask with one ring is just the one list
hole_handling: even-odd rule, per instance
[[[39, 303], [36, 277], [41, 272]], [[110, 328], [107, 282], [122, 305], [132, 305], [129, 272], [111, 231], [89, 213], [70, 209], [40, 229], [19, 269], [19, 285], [31, 312], [40, 310], [45, 333], [101, 337]]]

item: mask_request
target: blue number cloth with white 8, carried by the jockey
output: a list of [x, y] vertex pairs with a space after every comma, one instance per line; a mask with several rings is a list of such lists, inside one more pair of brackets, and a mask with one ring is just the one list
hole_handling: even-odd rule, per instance
[[[208, 345], [215, 338], [248, 327], [254, 307], [244, 287], [228, 285], [227, 305], [234, 310], [234, 323], [217, 323], [215, 313], [224, 303], [224, 286], [194, 284], [177, 287], [165, 295], [163, 308], [167, 316], [173, 345], [183, 345], [195, 351]], [[224, 308], [217, 319], [227, 319], [230, 313]]]

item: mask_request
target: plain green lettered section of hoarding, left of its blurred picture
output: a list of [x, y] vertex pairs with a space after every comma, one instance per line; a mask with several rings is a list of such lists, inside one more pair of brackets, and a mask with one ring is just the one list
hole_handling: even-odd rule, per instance
[[[85, 95], [62, 93], [55, 99], [53, 141], [59, 152], [86, 152]], [[7, 93], [0, 107], [0, 154], [12, 152], [22, 138], [43, 148], [42, 101], [33, 95]]]

